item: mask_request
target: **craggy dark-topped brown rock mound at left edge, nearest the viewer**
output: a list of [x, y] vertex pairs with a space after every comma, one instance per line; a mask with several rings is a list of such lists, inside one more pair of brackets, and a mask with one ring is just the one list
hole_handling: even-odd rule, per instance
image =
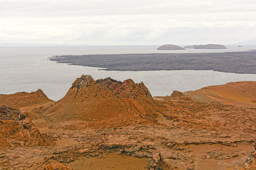
[[51, 142], [32, 124], [27, 114], [18, 109], [0, 107], [0, 148], [47, 146]]

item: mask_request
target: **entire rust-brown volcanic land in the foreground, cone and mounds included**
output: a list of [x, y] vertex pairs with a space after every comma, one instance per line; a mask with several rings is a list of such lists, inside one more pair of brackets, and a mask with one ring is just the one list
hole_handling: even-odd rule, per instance
[[0, 108], [0, 169], [255, 169], [255, 85], [153, 98], [131, 79], [82, 75], [56, 102], [1, 95], [22, 112]]

